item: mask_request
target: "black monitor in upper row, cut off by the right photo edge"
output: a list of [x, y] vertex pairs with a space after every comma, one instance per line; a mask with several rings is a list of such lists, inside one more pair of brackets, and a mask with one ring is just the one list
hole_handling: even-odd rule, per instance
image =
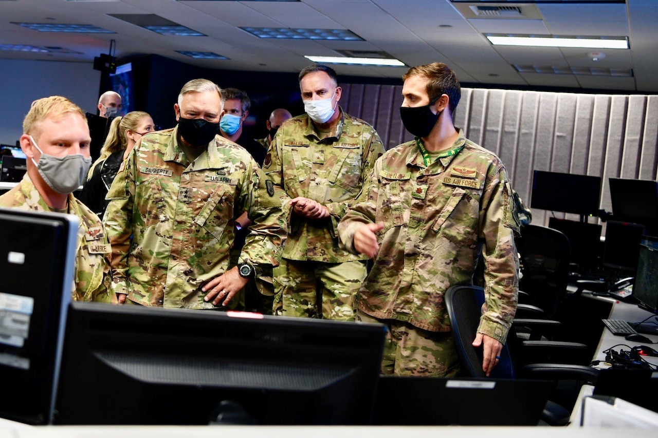
[[615, 219], [658, 221], [658, 182], [610, 178], [609, 183]]

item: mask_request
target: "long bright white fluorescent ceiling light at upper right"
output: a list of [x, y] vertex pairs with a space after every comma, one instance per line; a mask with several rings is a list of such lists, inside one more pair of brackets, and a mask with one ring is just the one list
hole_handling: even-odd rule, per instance
[[485, 35], [493, 45], [520, 45], [529, 47], [576, 47], [580, 49], [628, 49], [628, 38], [557, 37], [557, 36], [505, 36]]

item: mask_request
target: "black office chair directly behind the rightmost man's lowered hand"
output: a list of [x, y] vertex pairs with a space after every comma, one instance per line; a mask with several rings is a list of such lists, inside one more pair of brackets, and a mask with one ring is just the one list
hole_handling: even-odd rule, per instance
[[[445, 293], [445, 306], [450, 319], [450, 326], [455, 340], [455, 349], [461, 362], [462, 371], [467, 376], [485, 377], [482, 371], [482, 348], [474, 348], [472, 342], [476, 337], [480, 316], [484, 304], [484, 289], [472, 285], [455, 285]], [[508, 342], [503, 345], [501, 358], [493, 368], [491, 377], [532, 379], [576, 380], [577, 387], [582, 383], [595, 383], [597, 370], [588, 366], [569, 364], [524, 364], [517, 366], [513, 355], [516, 335], [513, 331], [508, 335]], [[553, 341], [522, 341], [520, 344], [532, 342], [535, 347], [544, 343], [550, 346]], [[576, 391], [577, 393], [577, 391]], [[575, 397], [574, 400], [575, 401]], [[552, 426], [563, 426], [569, 421], [570, 411], [557, 403], [547, 402], [542, 419]]]

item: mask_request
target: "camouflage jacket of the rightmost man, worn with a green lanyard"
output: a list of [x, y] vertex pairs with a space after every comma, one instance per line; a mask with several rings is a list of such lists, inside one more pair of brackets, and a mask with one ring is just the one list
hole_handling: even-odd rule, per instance
[[385, 224], [377, 233], [374, 267], [359, 290], [359, 310], [430, 331], [450, 330], [443, 293], [472, 282], [481, 250], [486, 309], [478, 332], [504, 342], [519, 285], [512, 189], [499, 158], [460, 130], [454, 147], [462, 145], [430, 166], [415, 141], [386, 152], [338, 231], [353, 250], [356, 226]]

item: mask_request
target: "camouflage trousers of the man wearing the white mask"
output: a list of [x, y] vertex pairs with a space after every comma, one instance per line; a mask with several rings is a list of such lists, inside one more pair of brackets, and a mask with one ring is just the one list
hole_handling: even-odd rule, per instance
[[281, 259], [274, 268], [274, 314], [353, 321], [365, 261], [326, 263]]

